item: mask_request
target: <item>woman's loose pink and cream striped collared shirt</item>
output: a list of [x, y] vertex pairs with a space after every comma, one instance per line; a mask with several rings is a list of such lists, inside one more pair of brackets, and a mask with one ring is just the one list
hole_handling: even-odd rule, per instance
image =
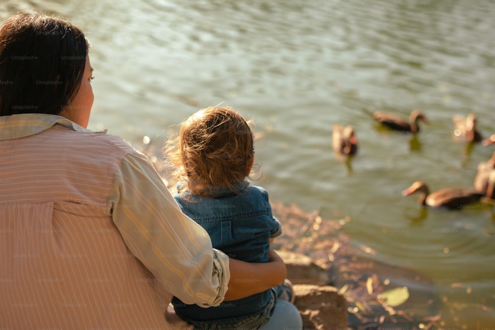
[[0, 117], [1, 329], [173, 329], [172, 295], [217, 306], [228, 265], [119, 137]]

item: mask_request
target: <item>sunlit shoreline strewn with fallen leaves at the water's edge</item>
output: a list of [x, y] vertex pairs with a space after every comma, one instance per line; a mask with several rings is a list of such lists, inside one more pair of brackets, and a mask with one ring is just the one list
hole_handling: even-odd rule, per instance
[[[148, 156], [167, 188], [175, 193], [175, 180], [162, 161], [161, 147], [158, 150], [148, 144], [137, 149]], [[457, 322], [450, 324], [459, 310], [447, 311], [446, 297], [436, 293], [438, 283], [414, 269], [388, 264], [372, 248], [356, 244], [347, 235], [350, 229], [346, 229], [346, 224], [350, 218], [322, 219], [317, 210], [305, 212], [296, 204], [285, 205], [280, 201], [270, 201], [270, 204], [284, 229], [272, 248], [308, 256], [314, 265], [325, 270], [331, 280], [325, 285], [335, 286], [347, 300], [348, 329], [366, 329], [364, 325], [374, 324], [375, 328], [368, 329], [401, 326], [400, 329], [428, 330], [459, 326]], [[462, 287], [462, 283], [449, 284]], [[397, 305], [387, 303], [382, 295], [391, 299], [390, 294], [403, 301]], [[468, 303], [465, 305], [467, 308]], [[481, 303], [472, 308], [490, 312]], [[446, 314], [446, 319], [442, 319], [442, 314]]]

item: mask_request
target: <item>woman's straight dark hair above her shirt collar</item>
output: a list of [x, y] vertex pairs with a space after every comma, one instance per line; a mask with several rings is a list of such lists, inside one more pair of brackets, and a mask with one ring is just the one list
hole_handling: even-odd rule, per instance
[[60, 114], [79, 90], [89, 42], [73, 24], [20, 12], [0, 28], [0, 116]]

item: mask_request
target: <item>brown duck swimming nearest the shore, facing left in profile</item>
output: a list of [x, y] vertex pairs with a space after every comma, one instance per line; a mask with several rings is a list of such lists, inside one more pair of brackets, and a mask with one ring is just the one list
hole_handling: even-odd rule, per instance
[[421, 193], [418, 199], [420, 205], [447, 209], [460, 209], [479, 201], [484, 196], [483, 193], [473, 188], [444, 188], [430, 193], [428, 186], [423, 181], [414, 182], [409, 188], [402, 191], [402, 196], [409, 196], [415, 192]]

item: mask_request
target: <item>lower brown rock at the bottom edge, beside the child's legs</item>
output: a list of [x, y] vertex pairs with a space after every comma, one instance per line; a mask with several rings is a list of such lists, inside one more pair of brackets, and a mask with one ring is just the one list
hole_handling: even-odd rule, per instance
[[304, 330], [346, 330], [347, 301], [334, 286], [294, 285]]

